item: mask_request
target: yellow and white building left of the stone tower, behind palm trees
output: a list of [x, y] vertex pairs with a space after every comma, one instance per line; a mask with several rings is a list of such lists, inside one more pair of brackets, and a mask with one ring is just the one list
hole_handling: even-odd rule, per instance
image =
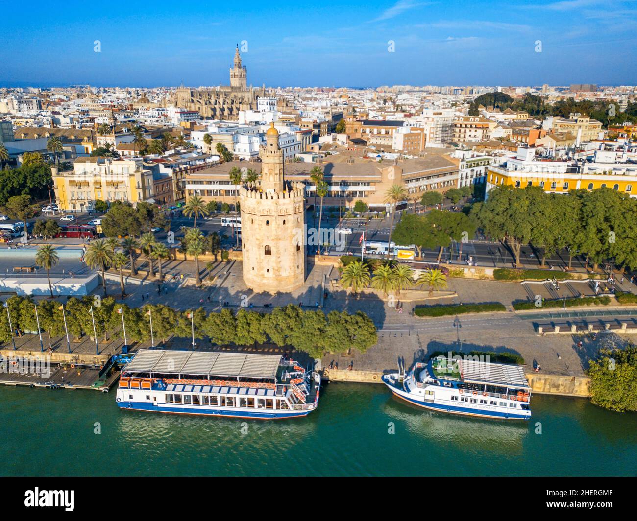
[[142, 159], [78, 157], [73, 171], [52, 167], [51, 173], [55, 200], [64, 211], [92, 210], [97, 199], [133, 204], [153, 195], [153, 175], [143, 168]]

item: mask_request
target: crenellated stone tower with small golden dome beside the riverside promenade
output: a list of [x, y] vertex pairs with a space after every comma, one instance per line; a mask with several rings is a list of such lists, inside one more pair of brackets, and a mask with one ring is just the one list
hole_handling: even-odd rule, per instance
[[261, 180], [241, 187], [243, 280], [256, 292], [290, 292], [305, 282], [303, 183], [285, 182], [283, 153], [272, 123], [261, 146]]

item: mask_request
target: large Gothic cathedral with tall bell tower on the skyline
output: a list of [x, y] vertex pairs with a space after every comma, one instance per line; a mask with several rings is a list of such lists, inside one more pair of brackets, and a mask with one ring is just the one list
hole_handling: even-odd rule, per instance
[[204, 118], [237, 120], [240, 110], [257, 108], [257, 99], [274, 96], [266, 90], [247, 86], [247, 69], [241, 64], [241, 55], [237, 45], [234, 52], [234, 64], [230, 68], [230, 85], [219, 85], [212, 89], [192, 89], [179, 87], [171, 98], [178, 108], [198, 110]]

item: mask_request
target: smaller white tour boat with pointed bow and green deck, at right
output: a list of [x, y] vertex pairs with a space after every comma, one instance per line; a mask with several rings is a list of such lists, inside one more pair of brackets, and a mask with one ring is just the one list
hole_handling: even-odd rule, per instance
[[434, 411], [508, 420], [531, 417], [531, 387], [521, 366], [467, 358], [417, 362], [404, 378], [396, 372], [382, 380], [396, 396]]

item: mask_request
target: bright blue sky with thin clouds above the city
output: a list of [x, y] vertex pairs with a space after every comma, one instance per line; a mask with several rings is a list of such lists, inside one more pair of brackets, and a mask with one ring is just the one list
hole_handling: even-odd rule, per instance
[[0, 5], [0, 85], [226, 84], [241, 42], [271, 87], [637, 83], [635, 0]]

